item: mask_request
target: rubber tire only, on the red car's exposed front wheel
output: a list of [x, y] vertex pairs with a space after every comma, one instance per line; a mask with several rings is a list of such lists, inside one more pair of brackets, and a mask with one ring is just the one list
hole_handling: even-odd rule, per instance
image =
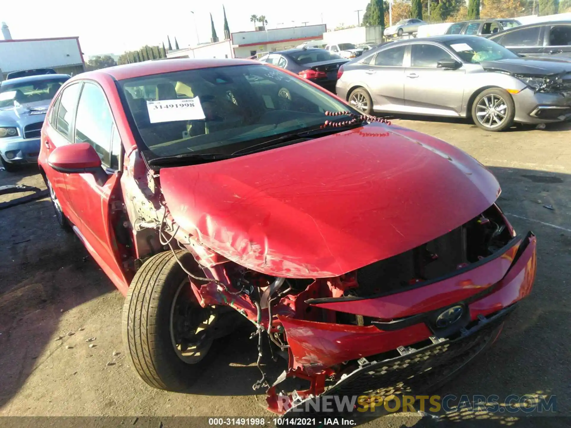
[[[195, 263], [186, 251], [176, 251], [176, 255], [188, 268]], [[184, 391], [207, 364], [208, 359], [203, 358], [207, 351], [196, 364], [184, 362], [171, 338], [173, 304], [185, 281], [188, 284], [188, 275], [172, 252], [159, 253], [137, 271], [123, 306], [122, 334], [127, 359], [135, 373], [157, 389]], [[200, 308], [198, 302], [195, 304]]]

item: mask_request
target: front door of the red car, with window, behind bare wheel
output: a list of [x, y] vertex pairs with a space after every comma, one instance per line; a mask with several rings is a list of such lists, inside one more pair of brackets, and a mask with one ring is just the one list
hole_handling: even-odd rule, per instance
[[127, 287], [121, 245], [115, 228], [121, 207], [119, 176], [122, 144], [103, 89], [92, 81], [83, 83], [72, 131], [74, 143], [89, 143], [101, 159], [100, 174], [68, 174], [67, 194], [81, 218], [81, 237], [87, 249], [119, 289]]

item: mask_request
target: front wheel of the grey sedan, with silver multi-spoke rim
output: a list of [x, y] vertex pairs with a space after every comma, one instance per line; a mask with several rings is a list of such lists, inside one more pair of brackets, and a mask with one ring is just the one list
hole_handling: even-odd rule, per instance
[[504, 131], [513, 125], [515, 115], [516, 104], [502, 88], [486, 89], [472, 103], [472, 120], [482, 130]]

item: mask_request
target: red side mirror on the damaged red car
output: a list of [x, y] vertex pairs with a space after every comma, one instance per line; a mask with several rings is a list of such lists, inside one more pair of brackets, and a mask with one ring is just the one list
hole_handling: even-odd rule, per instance
[[65, 173], [94, 173], [101, 170], [101, 159], [89, 143], [56, 147], [47, 163], [55, 171]]

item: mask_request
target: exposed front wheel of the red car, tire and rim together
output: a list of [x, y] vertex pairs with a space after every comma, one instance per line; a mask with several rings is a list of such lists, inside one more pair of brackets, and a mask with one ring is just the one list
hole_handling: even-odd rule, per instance
[[[190, 268], [194, 257], [176, 251]], [[188, 275], [170, 251], [148, 259], [133, 278], [123, 305], [123, 345], [132, 368], [148, 385], [183, 391], [201, 373], [215, 337], [216, 308], [202, 308]]]

